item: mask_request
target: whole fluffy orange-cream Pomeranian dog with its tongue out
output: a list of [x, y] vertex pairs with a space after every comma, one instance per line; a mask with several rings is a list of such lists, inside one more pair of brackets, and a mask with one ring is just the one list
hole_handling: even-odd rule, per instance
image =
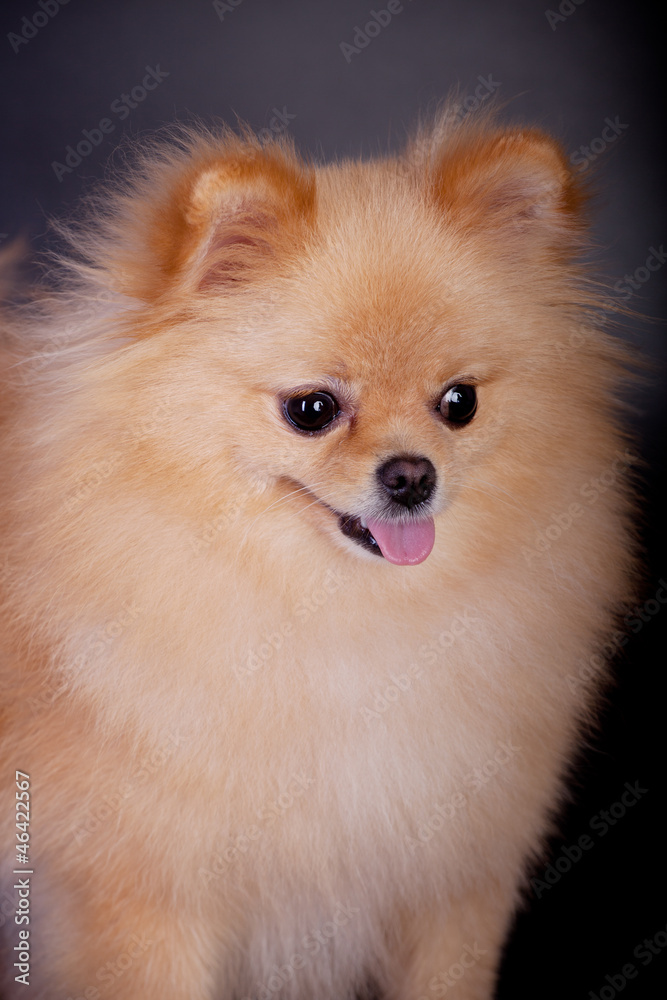
[[8, 997], [493, 995], [634, 596], [583, 206], [180, 132], [7, 309]]

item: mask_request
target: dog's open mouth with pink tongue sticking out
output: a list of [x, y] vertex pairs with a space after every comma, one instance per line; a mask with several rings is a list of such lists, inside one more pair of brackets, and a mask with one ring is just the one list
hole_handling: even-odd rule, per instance
[[[334, 511], [334, 513], [337, 513]], [[368, 552], [397, 566], [416, 566], [430, 555], [435, 542], [432, 517], [410, 521], [368, 518], [338, 514], [342, 533]]]

